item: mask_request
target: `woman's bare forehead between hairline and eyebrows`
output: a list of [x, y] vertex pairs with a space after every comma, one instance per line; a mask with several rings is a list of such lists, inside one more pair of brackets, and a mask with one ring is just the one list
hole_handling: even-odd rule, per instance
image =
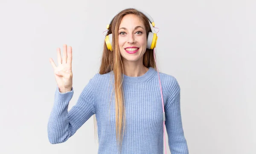
[[119, 28], [125, 27], [125, 28], [134, 28], [136, 26], [141, 26], [145, 28], [142, 20], [135, 14], [126, 14], [119, 25]]

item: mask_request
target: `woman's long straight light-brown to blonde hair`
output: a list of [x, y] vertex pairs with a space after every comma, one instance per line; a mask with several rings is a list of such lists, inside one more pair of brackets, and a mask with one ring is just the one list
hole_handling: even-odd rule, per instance
[[[101, 66], [99, 70], [99, 74], [109, 73], [113, 70], [114, 73], [114, 89], [115, 89], [115, 113], [116, 113], [116, 141], [117, 146], [120, 146], [120, 151], [122, 148], [122, 139], [125, 130], [125, 107], [124, 107], [124, 95], [122, 89], [122, 73], [124, 72], [124, 67], [122, 64], [121, 54], [119, 50], [118, 44], [118, 29], [122, 18], [126, 14], [135, 14], [137, 15], [140, 20], [145, 25], [145, 30], [147, 32], [151, 31], [150, 24], [148, 18], [140, 11], [135, 8], [127, 8], [120, 11], [116, 16], [113, 18], [108, 32], [106, 35], [111, 34], [113, 35], [113, 44], [112, 48], [113, 51], [108, 50], [106, 43], [104, 42], [103, 46], [103, 55]], [[151, 31], [152, 32], [152, 31]], [[143, 65], [145, 67], [153, 67], [156, 69], [156, 64], [154, 61], [154, 51], [153, 49], [146, 49], [143, 55]], [[96, 134], [96, 117], [94, 115], [94, 126], [95, 126], [95, 134]], [[121, 131], [123, 134], [121, 135]]]

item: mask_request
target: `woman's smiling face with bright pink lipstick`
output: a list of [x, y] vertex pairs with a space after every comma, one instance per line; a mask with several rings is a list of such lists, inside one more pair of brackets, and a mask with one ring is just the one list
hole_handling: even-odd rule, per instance
[[134, 14], [125, 15], [119, 25], [118, 43], [123, 62], [143, 62], [147, 35], [143, 22]]

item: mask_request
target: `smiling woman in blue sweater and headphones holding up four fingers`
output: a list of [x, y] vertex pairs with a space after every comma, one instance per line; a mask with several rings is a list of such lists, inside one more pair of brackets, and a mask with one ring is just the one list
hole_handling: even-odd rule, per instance
[[98, 154], [163, 154], [163, 122], [172, 154], [189, 153], [180, 114], [180, 86], [175, 77], [158, 76], [155, 70], [152, 48], [157, 37], [151, 31], [151, 20], [134, 8], [122, 10], [111, 20], [99, 73], [90, 79], [69, 112], [72, 48], [67, 51], [64, 45], [62, 59], [58, 48], [58, 67], [50, 59], [58, 84], [48, 123], [50, 143], [65, 142], [96, 115]]

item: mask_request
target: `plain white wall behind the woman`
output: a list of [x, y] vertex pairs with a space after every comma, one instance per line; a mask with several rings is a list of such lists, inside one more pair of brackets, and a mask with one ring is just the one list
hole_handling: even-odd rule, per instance
[[160, 29], [157, 64], [180, 84], [189, 154], [256, 154], [255, 0], [1, 0], [1, 154], [97, 153], [93, 116], [67, 142], [49, 143], [49, 58], [58, 64], [56, 49], [73, 48], [71, 109], [98, 73], [102, 32], [129, 7]]

